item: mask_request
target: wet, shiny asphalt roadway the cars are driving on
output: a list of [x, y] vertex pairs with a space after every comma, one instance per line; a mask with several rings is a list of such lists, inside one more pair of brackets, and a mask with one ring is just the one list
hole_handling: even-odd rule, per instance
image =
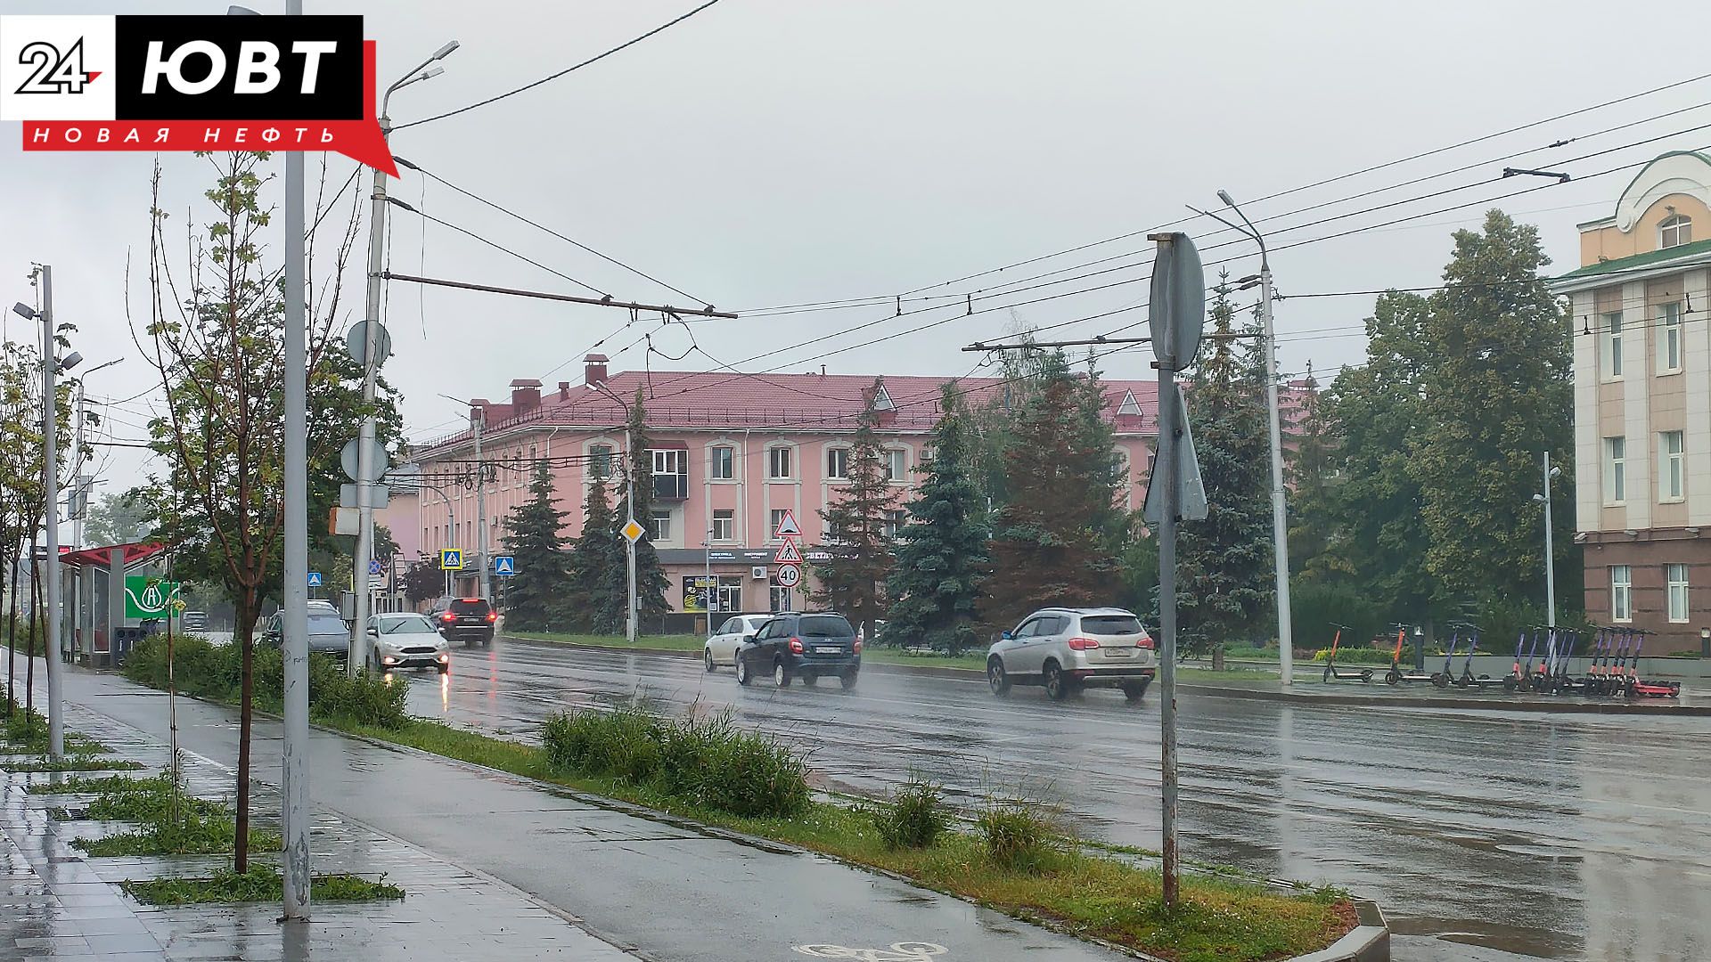
[[[967, 803], [1051, 799], [1093, 839], [1158, 847], [1158, 704], [1051, 704], [869, 671], [741, 688], [672, 656], [500, 638], [412, 676], [414, 714], [534, 738], [551, 712], [645, 695], [731, 707], [835, 784], [910, 772]], [[1374, 897], [1408, 960], [1711, 959], [1706, 719], [1300, 707], [1181, 697], [1184, 858]]]

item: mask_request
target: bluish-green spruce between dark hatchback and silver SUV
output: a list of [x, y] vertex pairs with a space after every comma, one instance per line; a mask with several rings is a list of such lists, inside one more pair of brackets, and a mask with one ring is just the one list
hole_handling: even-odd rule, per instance
[[974, 425], [955, 383], [941, 389], [932, 428], [932, 464], [909, 502], [909, 524], [897, 534], [897, 565], [886, 579], [886, 640], [926, 644], [960, 654], [977, 644], [987, 558], [986, 498], [975, 479]]

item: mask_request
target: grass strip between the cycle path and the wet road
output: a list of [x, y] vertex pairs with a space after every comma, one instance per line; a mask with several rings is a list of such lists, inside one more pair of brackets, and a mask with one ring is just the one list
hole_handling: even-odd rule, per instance
[[[927, 846], [895, 847], [888, 844], [888, 835], [895, 840], [898, 834], [881, 830], [883, 820], [874, 815], [886, 803], [838, 805], [804, 799], [790, 803], [789, 813], [734, 815], [707, 801], [691, 801], [684, 789], [672, 789], [679, 781], [698, 786], [693, 775], [696, 765], [679, 760], [679, 772], [691, 775], [664, 777], [659, 767], [666, 762], [655, 760], [655, 748], [645, 746], [650, 741], [667, 745], [671, 736], [638, 733], [645, 722], [635, 717], [619, 717], [601, 727], [599, 722], [582, 716], [566, 717], [571, 724], [585, 726], [585, 736], [592, 731], [590, 738], [601, 739], [628, 731], [628, 743], [566, 751], [565, 733], [553, 736], [549, 727], [549, 738], [558, 741], [558, 750], [551, 750], [429, 721], [411, 721], [397, 729], [339, 722], [334, 722], [334, 727], [794, 844], [852, 864], [891, 871], [922, 887], [972, 899], [1023, 919], [1056, 924], [1081, 936], [1179, 962], [1283, 959], [1324, 948], [1353, 928], [1353, 909], [1341, 892], [1280, 892], [1252, 882], [1205, 876], [1184, 876], [1184, 900], [1175, 911], [1167, 912], [1160, 902], [1157, 871], [1088, 852], [1056, 832], [1028, 837], [1032, 825], [1028, 820], [1021, 820], [1018, 827], [1015, 818], [998, 818], [992, 830], [929, 832], [932, 840]], [[676, 750], [695, 751], [693, 746], [683, 745]], [[554, 763], [554, 755], [563, 762], [599, 758], [585, 763], [604, 774], [571, 770]], [[712, 796], [703, 791], [702, 798]], [[1003, 803], [994, 811], [1004, 813], [1013, 808], [1015, 803]], [[1008, 832], [1013, 844], [994, 849], [992, 832]]]

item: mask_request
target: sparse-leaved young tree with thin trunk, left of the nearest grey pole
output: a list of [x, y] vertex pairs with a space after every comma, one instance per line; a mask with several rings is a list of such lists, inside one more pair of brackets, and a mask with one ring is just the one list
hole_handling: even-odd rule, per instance
[[[233, 868], [248, 868], [250, 729], [255, 697], [255, 623], [277, 592], [284, 524], [284, 294], [282, 267], [267, 265], [262, 236], [272, 223], [263, 192], [269, 154], [204, 154], [214, 217], [186, 223], [183, 262], [168, 241], [156, 164], [149, 207], [147, 318], [130, 318], [132, 339], [161, 377], [164, 413], [151, 423], [166, 476], [154, 479], [157, 534], [173, 548], [175, 572], [219, 584], [236, 608], [233, 644], [241, 659], [238, 733], [238, 837]], [[325, 166], [322, 188], [325, 197]], [[334, 197], [337, 202], [337, 197]], [[320, 224], [317, 204], [315, 224]], [[335, 236], [329, 276], [308, 276], [311, 409], [329, 378], [323, 356], [339, 315], [339, 289], [358, 236], [356, 197]], [[315, 229], [308, 236], [315, 264]], [[127, 281], [128, 286], [128, 281]], [[128, 300], [128, 298], [127, 298]], [[332, 382], [340, 382], [334, 377]], [[320, 383], [317, 383], [320, 382]], [[313, 433], [313, 423], [311, 423]]]

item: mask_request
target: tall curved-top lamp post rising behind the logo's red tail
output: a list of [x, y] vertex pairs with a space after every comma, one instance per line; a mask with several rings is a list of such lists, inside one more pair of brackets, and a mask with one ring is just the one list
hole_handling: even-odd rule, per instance
[[[443, 60], [453, 50], [457, 50], [457, 41], [447, 43], [435, 51], [433, 56], [423, 60], [416, 67], [411, 67], [404, 79], [397, 84], [387, 87], [385, 96], [380, 101], [380, 135], [387, 137], [392, 132], [392, 118], [387, 116], [392, 94], [402, 87], [407, 87], [417, 80], [428, 80], [438, 77], [445, 70], [440, 67], [426, 68], [436, 60]], [[426, 68], [426, 70], [424, 70]], [[375, 380], [380, 370], [380, 272], [385, 269], [385, 238], [387, 238], [387, 175], [380, 168], [375, 168], [375, 190], [368, 212], [368, 289], [363, 300], [363, 404], [364, 407], [373, 407], [375, 404]], [[351, 565], [351, 587], [356, 596], [356, 618], [351, 621], [351, 650], [346, 659], [346, 668], [354, 674], [359, 666], [366, 664], [368, 644], [364, 637], [364, 625], [368, 625], [368, 565], [375, 558], [375, 507], [373, 507], [373, 488], [375, 488], [375, 464], [373, 448], [375, 447], [375, 414], [370, 411], [363, 414], [363, 425], [358, 428], [356, 442], [356, 558]]]

